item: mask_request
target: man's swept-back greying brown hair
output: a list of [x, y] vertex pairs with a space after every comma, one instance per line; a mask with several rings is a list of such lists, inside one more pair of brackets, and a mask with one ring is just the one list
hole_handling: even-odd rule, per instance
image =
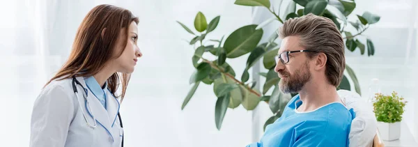
[[300, 36], [301, 47], [316, 51], [307, 52], [309, 59], [323, 52], [327, 56], [325, 75], [328, 82], [339, 86], [346, 68], [346, 58], [343, 37], [332, 20], [310, 13], [284, 22], [279, 35], [281, 38]]

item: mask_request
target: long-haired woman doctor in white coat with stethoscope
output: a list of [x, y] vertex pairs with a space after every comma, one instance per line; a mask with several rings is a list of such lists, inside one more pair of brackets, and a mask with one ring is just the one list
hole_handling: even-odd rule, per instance
[[119, 101], [142, 56], [138, 22], [130, 10], [111, 5], [86, 15], [68, 61], [33, 106], [30, 146], [123, 146]]

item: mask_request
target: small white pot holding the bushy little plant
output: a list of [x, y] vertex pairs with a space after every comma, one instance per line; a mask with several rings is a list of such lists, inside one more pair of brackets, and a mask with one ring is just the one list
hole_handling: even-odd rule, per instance
[[380, 137], [384, 141], [394, 141], [401, 137], [401, 122], [384, 123], [378, 121]]

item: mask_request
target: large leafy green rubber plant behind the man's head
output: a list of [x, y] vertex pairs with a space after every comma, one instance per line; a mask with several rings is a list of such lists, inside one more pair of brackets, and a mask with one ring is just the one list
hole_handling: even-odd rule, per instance
[[[360, 54], [364, 55], [367, 52], [367, 56], [373, 56], [375, 49], [371, 38], [359, 38], [363, 36], [362, 33], [369, 28], [371, 24], [375, 24], [380, 20], [378, 15], [364, 12], [362, 15], [352, 14], [356, 8], [355, 1], [347, 0], [293, 0], [289, 3], [282, 3], [282, 0], [277, 1], [279, 6], [272, 6], [269, 0], [235, 0], [235, 4], [239, 6], [256, 6], [259, 8], [267, 8], [272, 17], [260, 24], [248, 24], [241, 26], [235, 31], [229, 32], [229, 36], [219, 36], [217, 38], [207, 38], [206, 36], [213, 31], [221, 22], [221, 17], [218, 15], [207, 23], [206, 16], [203, 13], [198, 12], [194, 17], [194, 30], [189, 29], [185, 24], [178, 22], [187, 33], [192, 34], [189, 44], [195, 47], [194, 54], [192, 56], [192, 65], [195, 71], [192, 73], [189, 83], [194, 84], [190, 88], [189, 93], [183, 102], [182, 109], [185, 108], [187, 103], [194, 95], [196, 88], [199, 84], [213, 85], [213, 93], [217, 97], [215, 107], [215, 124], [218, 130], [220, 130], [222, 121], [228, 108], [235, 109], [242, 105], [247, 110], [252, 110], [257, 107], [259, 102], [268, 102], [270, 110], [273, 116], [265, 122], [264, 127], [273, 123], [280, 118], [281, 113], [284, 111], [284, 107], [288, 103], [295, 93], [284, 94], [279, 91], [280, 78], [277, 73], [274, 72], [274, 56], [277, 55], [279, 48], [277, 43], [274, 42], [278, 38], [276, 31], [268, 32], [270, 37], [266, 42], [261, 42], [263, 36], [263, 26], [270, 24], [271, 22], [278, 21], [284, 23], [289, 19], [302, 17], [312, 13], [314, 15], [320, 15], [327, 17], [341, 32], [343, 40], [346, 45], [346, 49], [350, 52], [354, 52], [355, 49], [360, 50]], [[285, 5], [285, 6], [281, 6]], [[301, 8], [300, 8], [301, 6]], [[285, 8], [285, 10], [278, 10], [275, 12], [274, 7]], [[296, 9], [299, 8], [299, 9]], [[280, 12], [284, 12], [280, 14]], [[348, 20], [349, 16], [355, 20]], [[280, 16], [280, 17], [279, 17]], [[248, 16], [251, 17], [251, 16]], [[347, 31], [346, 29], [352, 26], [357, 32]], [[228, 34], [228, 32], [225, 32]], [[225, 37], [225, 40], [224, 40]], [[204, 43], [203, 43], [204, 42]], [[203, 56], [215, 56], [215, 61], [210, 61], [203, 58]], [[245, 69], [243, 71], [237, 71], [229, 65], [229, 59], [239, 58], [249, 54], [247, 62], [245, 63]], [[249, 70], [251, 67], [260, 61], [263, 62], [263, 67], [268, 72], [260, 72], [259, 75], [265, 78], [265, 82], [262, 89], [255, 88], [257, 82], [251, 79], [251, 77], [259, 76], [250, 75]], [[347, 75], [343, 76], [341, 84], [337, 89], [351, 90], [350, 81], [354, 84], [354, 89], [361, 95], [358, 79], [350, 66], [346, 65]], [[241, 75], [240, 79], [235, 77]], [[263, 79], [261, 79], [263, 80]], [[272, 93], [268, 94], [268, 91], [273, 88]]]

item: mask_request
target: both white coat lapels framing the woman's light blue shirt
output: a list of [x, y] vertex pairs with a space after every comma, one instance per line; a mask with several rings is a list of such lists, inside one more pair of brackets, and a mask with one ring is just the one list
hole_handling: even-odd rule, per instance
[[84, 78], [76, 77], [76, 79], [80, 82], [80, 84], [82, 84], [82, 86], [84, 86], [84, 90], [87, 92], [87, 100], [84, 100], [84, 106], [88, 115], [95, 118], [98, 123], [98, 127], [104, 127], [111, 139], [114, 141], [114, 136], [111, 134], [111, 127], [114, 127], [114, 123], [119, 112], [119, 101], [110, 93], [109, 90], [105, 91], [107, 95], [107, 110], [104, 109], [100, 101], [86, 88], [87, 86], [86, 82], [84, 82]]

